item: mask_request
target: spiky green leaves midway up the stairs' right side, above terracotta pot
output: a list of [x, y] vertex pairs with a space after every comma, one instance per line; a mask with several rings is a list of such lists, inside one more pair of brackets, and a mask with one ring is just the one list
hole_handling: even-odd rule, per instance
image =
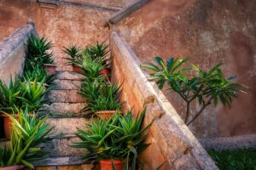
[[121, 90], [114, 84], [108, 84], [103, 80], [91, 81], [85, 78], [80, 86], [79, 94], [86, 99], [86, 106], [82, 111], [119, 111]]

